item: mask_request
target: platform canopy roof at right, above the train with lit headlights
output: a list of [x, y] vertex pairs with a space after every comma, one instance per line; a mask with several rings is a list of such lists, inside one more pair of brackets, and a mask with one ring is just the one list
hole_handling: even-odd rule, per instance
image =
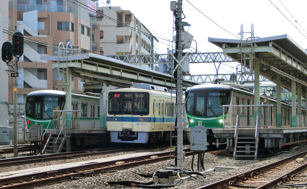
[[[301, 83], [301, 94], [306, 98], [307, 51], [289, 35], [264, 38], [221, 39], [208, 37], [208, 41], [223, 49], [223, 54], [241, 62], [240, 53], [244, 44], [252, 45], [253, 59], [259, 60], [260, 75], [277, 83], [277, 73], [281, 75], [281, 86], [291, 91], [291, 80]], [[248, 46], [248, 45], [246, 45]], [[245, 49], [247, 49], [246, 47]], [[255, 64], [253, 64], [253, 70]]]

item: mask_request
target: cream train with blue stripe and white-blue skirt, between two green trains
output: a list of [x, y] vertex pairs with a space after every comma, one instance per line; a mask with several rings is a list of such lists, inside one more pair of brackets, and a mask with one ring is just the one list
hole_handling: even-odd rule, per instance
[[145, 83], [107, 93], [107, 130], [111, 142], [171, 140], [176, 122], [176, 92]]

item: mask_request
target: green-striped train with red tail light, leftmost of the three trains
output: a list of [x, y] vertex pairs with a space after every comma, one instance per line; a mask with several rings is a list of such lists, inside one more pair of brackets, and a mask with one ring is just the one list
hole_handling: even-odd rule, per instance
[[[66, 92], [57, 90], [30, 92], [26, 96], [25, 105], [27, 125], [32, 126], [37, 123], [47, 129], [50, 120], [53, 119], [53, 110], [56, 110], [56, 107], [59, 108], [58, 110], [66, 110], [65, 96]], [[71, 110], [80, 111], [80, 129], [99, 129], [99, 99], [97, 96], [72, 93]], [[65, 118], [61, 118], [61, 120], [65, 120]]]

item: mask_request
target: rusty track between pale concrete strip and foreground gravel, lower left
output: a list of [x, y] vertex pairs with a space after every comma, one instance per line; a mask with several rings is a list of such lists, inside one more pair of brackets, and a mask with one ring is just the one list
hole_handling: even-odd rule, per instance
[[[192, 155], [192, 153], [193, 152], [189, 151], [189, 149], [185, 150], [186, 156]], [[160, 152], [154, 155], [158, 157], [151, 159], [150, 157], [153, 156], [153, 154], [151, 154], [100, 163], [83, 164], [75, 167], [56, 169], [52, 171], [36, 172], [22, 176], [1, 177], [0, 189], [25, 189], [47, 185], [51, 183], [58, 183], [74, 178], [93, 176], [102, 172], [131, 168], [142, 164], [149, 164], [158, 161], [168, 160], [171, 158], [172, 155], [174, 155], [174, 152]], [[123, 161], [125, 163], [121, 165], [115, 165], [115, 163], [118, 161]]]

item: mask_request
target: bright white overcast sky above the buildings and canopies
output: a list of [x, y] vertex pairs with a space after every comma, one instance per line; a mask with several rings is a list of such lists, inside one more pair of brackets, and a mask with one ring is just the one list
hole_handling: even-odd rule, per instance
[[[297, 44], [307, 48], [306, 0], [182, 0], [182, 3], [185, 15], [183, 21], [191, 24], [185, 30], [197, 41], [198, 52], [222, 52], [221, 48], [208, 42], [208, 37], [236, 39], [241, 24], [244, 32], [251, 32], [253, 24], [255, 37], [288, 34]], [[99, 0], [99, 6], [107, 6], [106, 0]], [[109, 6], [120, 6], [134, 13], [158, 37], [158, 53], [166, 53], [167, 48], [172, 49], [173, 44], [168, 42], [175, 34], [170, 1], [111, 0]], [[194, 41], [191, 47], [185, 51], [195, 52]], [[213, 71], [206, 73], [193, 66], [190, 67], [191, 74], [215, 74], [214, 67]], [[219, 73], [231, 73], [233, 70], [231, 66], [223, 66]]]

